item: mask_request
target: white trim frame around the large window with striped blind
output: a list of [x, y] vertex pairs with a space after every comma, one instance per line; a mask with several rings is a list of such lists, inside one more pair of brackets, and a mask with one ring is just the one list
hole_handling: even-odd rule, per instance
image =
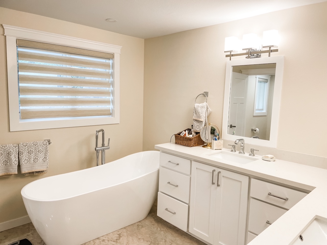
[[[103, 125], [119, 123], [119, 74], [120, 74], [120, 49], [122, 46], [103, 42], [90, 41], [59, 35], [50, 32], [32, 30], [12, 25], [2, 25], [5, 29], [7, 46], [7, 77], [9, 99], [9, 125], [10, 131], [24, 131], [47, 128], [65, 128], [90, 125]], [[17, 46], [16, 39], [47, 42], [77, 48], [90, 49], [101, 52], [113, 53], [113, 113], [108, 117], [88, 118], [58, 118], [58, 119], [28, 119], [19, 118], [19, 93], [17, 71]]]

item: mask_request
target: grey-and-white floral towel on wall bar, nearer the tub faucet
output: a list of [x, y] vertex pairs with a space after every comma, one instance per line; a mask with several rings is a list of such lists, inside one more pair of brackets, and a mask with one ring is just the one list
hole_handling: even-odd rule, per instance
[[30, 175], [47, 172], [49, 164], [48, 141], [19, 143], [18, 155], [22, 174]]

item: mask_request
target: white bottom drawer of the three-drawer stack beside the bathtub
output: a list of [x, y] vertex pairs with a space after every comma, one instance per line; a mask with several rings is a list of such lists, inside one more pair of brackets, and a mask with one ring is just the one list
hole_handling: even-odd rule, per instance
[[187, 204], [158, 192], [157, 215], [181, 230], [187, 231]]

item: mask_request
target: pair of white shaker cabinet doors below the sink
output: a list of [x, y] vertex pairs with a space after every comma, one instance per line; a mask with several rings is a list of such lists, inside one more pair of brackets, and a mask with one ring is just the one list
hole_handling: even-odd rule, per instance
[[189, 232], [214, 245], [245, 243], [249, 177], [192, 161]]

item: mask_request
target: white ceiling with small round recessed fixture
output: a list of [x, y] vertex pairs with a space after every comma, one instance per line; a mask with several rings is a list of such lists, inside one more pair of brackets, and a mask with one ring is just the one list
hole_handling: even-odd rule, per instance
[[145, 39], [324, 1], [0, 0], [0, 7]]

